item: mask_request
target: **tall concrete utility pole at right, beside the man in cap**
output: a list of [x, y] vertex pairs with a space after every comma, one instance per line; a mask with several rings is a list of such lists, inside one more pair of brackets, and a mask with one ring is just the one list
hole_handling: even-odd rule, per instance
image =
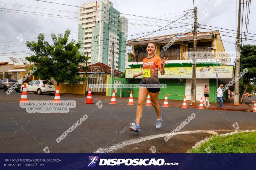
[[240, 19], [241, 19], [241, 0], [239, 0], [239, 6], [238, 6], [238, 22], [237, 22], [237, 54], [238, 57], [236, 59], [236, 73], [235, 76], [238, 79], [238, 81], [235, 82], [235, 95], [234, 95], [234, 106], [239, 106], [239, 77], [237, 75], [240, 75]]

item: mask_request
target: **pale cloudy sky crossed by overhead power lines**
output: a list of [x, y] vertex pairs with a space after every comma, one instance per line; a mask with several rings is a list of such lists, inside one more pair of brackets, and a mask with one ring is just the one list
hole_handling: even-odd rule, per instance
[[[13, 56], [18, 59], [24, 58], [25, 56], [30, 56], [31, 54], [29, 53], [31, 53], [31, 51], [29, 51], [29, 49], [25, 46], [25, 42], [32, 40], [36, 41], [39, 33], [45, 34], [45, 40], [47, 40], [49, 43], [52, 42], [50, 39], [50, 35], [52, 33], [64, 34], [66, 29], [71, 30], [72, 37], [77, 37], [78, 7], [73, 6], [81, 6], [83, 3], [88, 3], [91, 1], [45, 1], [51, 1], [53, 3], [35, 0], [0, 0], [0, 62], [10, 61], [9, 56]], [[226, 32], [221, 32], [221, 38], [224, 43], [225, 51], [229, 52], [236, 50], [234, 44], [236, 39], [234, 37], [230, 37], [234, 36], [234, 34], [232, 34], [233, 31], [230, 30], [237, 30], [238, 1], [239, 0], [195, 0], [195, 6], [198, 7], [198, 23], [202, 24], [201, 27], [210, 30], [218, 29], [203, 26], [209, 25], [229, 29], [223, 30]], [[63, 4], [72, 6], [55, 4], [56, 2], [61, 2]], [[129, 19], [129, 39], [139, 38], [143, 35], [147, 35], [140, 33], [158, 30], [159, 28], [170, 24], [170, 21], [179, 19], [193, 8], [193, 0], [112, 0], [112, 2], [114, 4], [114, 8], [123, 13], [121, 16], [125, 16]], [[256, 16], [255, 7], [255, 2], [252, 2], [248, 25], [248, 32], [253, 33], [248, 34], [248, 39], [253, 40], [256, 39], [256, 35], [254, 35], [256, 34], [256, 25], [255, 22], [253, 22], [255, 20], [254, 16]], [[244, 7], [244, 11], [245, 8], [246, 6]], [[47, 14], [48, 16], [43, 15], [42, 13]], [[175, 22], [164, 28], [172, 29], [158, 31], [149, 35], [148, 37], [182, 32], [185, 27], [180, 26], [186, 25], [186, 23], [190, 24], [193, 21], [191, 14], [192, 13], [190, 12], [186, 18], [180, 18], [177, 21], [179, 23]], [[157, 18], [168, 21], [147, 19], [143, 17]], [[199, 31], [210, 31], [207, 29], [199, 29]], [[249, 37], [249, 35], [251, 37]], [[253, 40], [248, 40], [247, 44], [255, 44], [256, 41]], [[10, 47], [6, 47], [8, 45], [8, 41], [10, 41]]]

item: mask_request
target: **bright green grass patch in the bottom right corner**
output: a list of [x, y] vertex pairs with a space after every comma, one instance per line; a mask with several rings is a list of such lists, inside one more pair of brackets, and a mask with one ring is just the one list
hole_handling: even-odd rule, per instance
[[187, 153], [256, 153], [256, 132], [240, 132], [227, 136], [213, 136]]

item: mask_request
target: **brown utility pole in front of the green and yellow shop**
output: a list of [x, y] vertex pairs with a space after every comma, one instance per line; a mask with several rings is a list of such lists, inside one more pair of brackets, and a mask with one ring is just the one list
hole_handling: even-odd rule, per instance
[[[195, 21], [194, 21], [194, 47], [193, 52], [196, 52], [197, 43], [197, 7], [195, 7]], [[195, 94], [196, 94], [196, 58], [192, 65], [192, 92], [191, 92], [191, 105], [195, 106]]]

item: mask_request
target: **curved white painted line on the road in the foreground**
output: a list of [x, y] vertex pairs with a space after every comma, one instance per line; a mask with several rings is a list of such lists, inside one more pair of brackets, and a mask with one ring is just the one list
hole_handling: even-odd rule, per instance
[[[193, 134], [193, 133], [203, 133], [205, 131], [212, 131], [212, 130], [192, 130], [192, 131], [181, 131], [181, 132], [176, 132], [173, 135], [180, 135], [180, 134]], [[230, 130], [218, 130], [218, 131], [230, 131]], [[135, 138], [135, 139], [130, 139], [130, 140], [125, 140], [124, 142], [112, 145], [110, 147], [104, 147], [102, 148], [102, 152], [100, 151], [95, 151], [94, 153], [111, 153], [114, 152], [118, 149], [122, 149], [125, 146], [131, 145], [131, 144], [136, 144], [136, 143], [140, 143], [140, 142], [144, 142], [146, 140], [151, 140], [151, 139], [155, 139], [155, 138], [160, 138], [160, 137], [166, 137], [168, 136], [170, 133], [167, 134], [157, 134], [157, 135], [150, 135], [150, 136], [144, 136], [141, 138]]]

